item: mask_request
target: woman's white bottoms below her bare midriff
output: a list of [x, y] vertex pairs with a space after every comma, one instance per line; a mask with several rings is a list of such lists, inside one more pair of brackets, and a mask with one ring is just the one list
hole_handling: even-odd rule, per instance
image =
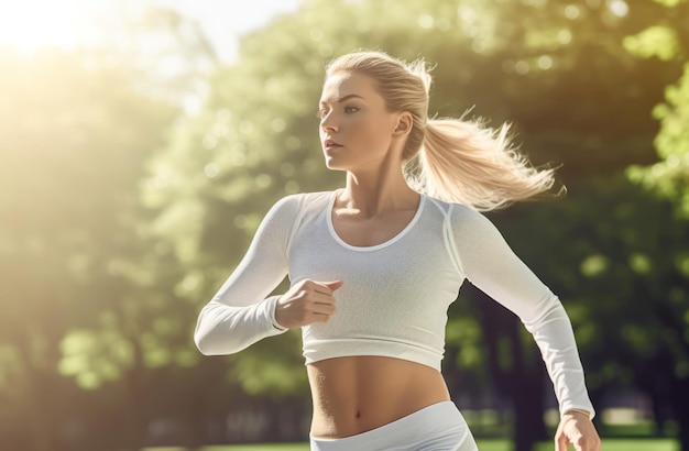
[[310, 438], [311, 451], [478, 451], [451, 400], [434, 404], [380, 428], [343, 439]]

